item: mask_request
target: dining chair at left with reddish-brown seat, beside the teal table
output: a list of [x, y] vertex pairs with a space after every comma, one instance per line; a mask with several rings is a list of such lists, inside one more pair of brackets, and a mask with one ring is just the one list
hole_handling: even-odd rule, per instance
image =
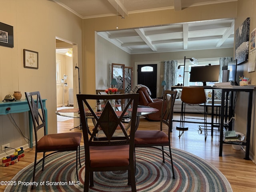
[[[46, 119], [45, 113], [41, 106], [43, 106], [40, 92], [25, 92], [26, 100], [28, 101], [28, 106], [30, 108], [30, 114], [32, 117], [34, 134], [35, 134], [35, 161], [34, 161], [34, 171], [32, 182], [35, 181], [36, 166], [42, 161], [42, 171], [44, 170], [45, 158], [55, 154], [57, 152], [64, 151], [76, 151], [76, 177], [78, 178], [78, 159], [80, 162], [80, 142], [82, 138], [82, 133], [80, 132], [67, 132], [67, 133], [57, 133], [57, 134], [46, 134]], [[38, 131], [43, 130], [44, 136], [39, 138]], [[37, 154], [39, 152], [43, 153], [43, 158], [37, 162]], [[46, 155], [46, 152], [51, 152]], [[34, 188], [34, 185], [32, 185]]]

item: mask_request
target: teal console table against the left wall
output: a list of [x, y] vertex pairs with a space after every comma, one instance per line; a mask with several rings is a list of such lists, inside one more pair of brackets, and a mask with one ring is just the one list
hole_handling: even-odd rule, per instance
[[[48, 123], [47, 123], [47, 109], [46, 109], [46, 99], [42, 100], [43, 108], [45, 112], [45, 119], [46, 119], [46, 134], [48, 130]], [[9, 102], [2, 102], [0, 101], [0, 115], [7, 115], [11, 113], [22, 113], [30, 111], [28, 102], [25, 99], [16, 100], [16, 101], [9, 101]], [[30, 138], [30, 148], [33, 146], [33, 122], [29, 112], [29, 138]]]

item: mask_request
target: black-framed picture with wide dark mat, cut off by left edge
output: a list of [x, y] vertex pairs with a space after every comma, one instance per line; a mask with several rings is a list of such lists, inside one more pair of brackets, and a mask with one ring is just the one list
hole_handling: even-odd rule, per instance
[[13, 48], [13, 26], [0, 22], [0, 45]]

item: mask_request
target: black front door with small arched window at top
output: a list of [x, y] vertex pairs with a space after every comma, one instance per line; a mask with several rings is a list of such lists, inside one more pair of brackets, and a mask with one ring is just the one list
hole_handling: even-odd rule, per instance
[[138, 84], [145, 85], [151, 92], [151, 98], [156, 98], [157, 64], [138, 65]]

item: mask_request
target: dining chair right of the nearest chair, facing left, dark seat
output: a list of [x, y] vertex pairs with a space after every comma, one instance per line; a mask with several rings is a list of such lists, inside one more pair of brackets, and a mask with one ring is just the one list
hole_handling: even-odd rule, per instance
[[[173, 106], [176, 99], [177, 91], [164, 91], [162, 109], [161, 109], [161, 120], [159, 130], [137, 130], [135, 132], [134, 145], [135, 148], [151, 147], [162, 151], [163, 162], [164, 154], [168, 155], [172, 164], [172, 174], [174, 175], [172, 152], [170, 146], [172, 132], [172, 118], [173, 118]], [[168, 133], [163, 131], [163, 125], [168, 126]], [[168, 146], [169, 154], [164, 150], [164, 146]]]

